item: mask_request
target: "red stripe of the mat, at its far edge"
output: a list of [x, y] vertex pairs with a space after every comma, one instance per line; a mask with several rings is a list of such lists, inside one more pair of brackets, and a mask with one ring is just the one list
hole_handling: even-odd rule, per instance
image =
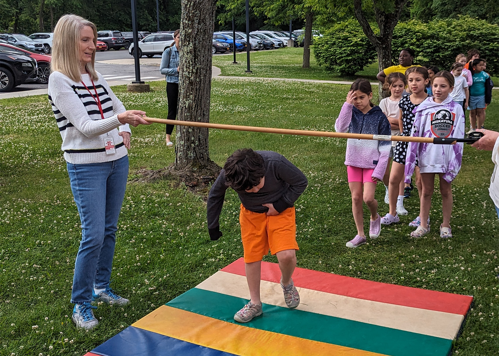
[[[246, 276], [244, 260], [240, 258], [222, 271]], [[262, 262], [262, 280], [279, 283], [280, 275], [278, 264]], [[294, 270], [293, 281], [296, 287], [460, 315], [468, 313], [473, 301], [471, 296], [373, 282], [304, 268]]]

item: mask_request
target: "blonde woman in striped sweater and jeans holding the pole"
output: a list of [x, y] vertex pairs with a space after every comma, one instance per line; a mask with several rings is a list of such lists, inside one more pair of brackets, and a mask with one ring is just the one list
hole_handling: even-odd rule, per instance
[[98, 324], [93, 301], [124, 305], [110, 287], [118, 215], [128, 177], [130, 127], [149, 124], [145, 112], [126, 111], [94, 68], [97, 29], [77, 15], [54, 30], [48, 101], [62, 136], [71, 190], [80, 215], [81, 242], [71, 303], [76, 327]]

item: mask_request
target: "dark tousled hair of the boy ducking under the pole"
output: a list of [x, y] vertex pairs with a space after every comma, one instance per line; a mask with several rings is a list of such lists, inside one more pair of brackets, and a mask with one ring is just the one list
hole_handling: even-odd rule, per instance
[[227, 186], [246, 190], [260, 184], [265, 175], [263, 158], [251, 149], [234, 152], [224, 165]]

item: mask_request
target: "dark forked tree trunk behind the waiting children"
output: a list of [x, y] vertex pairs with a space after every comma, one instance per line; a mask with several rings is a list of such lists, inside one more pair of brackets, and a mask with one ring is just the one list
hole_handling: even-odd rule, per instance
[[[379, 0], [373, 0], [374, 14], [379, 27], [379, 35], [376, 35], [371, 28], [367, 18], [362, 12], [362, 0], [354, 0], [354, 14], [362, 26], [362, 30], [371, 41], [378, 54], [379, 70], [383, 70], [392, 64], [392, 37], [393, 29], [399, 21], [400, 14], [407, 0], [395, 0], [393, 12], [385, 12], [378, 6]], [[383, 93], [382, 85], [379, 85], [379, 98], [386, 96]]]

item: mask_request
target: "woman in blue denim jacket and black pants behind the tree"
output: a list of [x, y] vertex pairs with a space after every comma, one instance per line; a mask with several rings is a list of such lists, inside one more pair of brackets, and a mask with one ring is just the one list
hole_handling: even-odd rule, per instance
[[[166, 96], [168, 98], [168, 120], [177, 118], [177, 107], [179, 101], [179, 40], [180, 30], [173, 34], [175, 42], [165, 49], [161, 57], [160, 73], [166, 75]], [[173, 125], [166, 125], [166, 146], [173, 147], [171, 140]]]

